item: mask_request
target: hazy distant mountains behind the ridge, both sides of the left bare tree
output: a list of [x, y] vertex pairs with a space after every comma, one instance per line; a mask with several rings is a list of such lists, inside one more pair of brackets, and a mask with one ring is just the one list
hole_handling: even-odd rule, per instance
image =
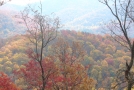
[[[94, 1], [94, 3], [97, 2]], [[102, 28], [100, 24], [102, 22], [108, 22], [113, 18], [111, 12], [106, 7], [102, 7], [101, 4], [98, 6], [96, 5], [96, 7], [92, 4], [91, 7], [88, 5], [83, 6], [82, 4], [71, 6], [68, 4], [68, 6], [65, 7], [62, 5], [60, 8], [55, 5], [55, 7], [57, 8], [54, 9], [54, 13], [59, 17], [63, 29], [101, 34]], [[50, 11], [53, 11], [52, 7], [50, 8], [50, 11], [45, 5], [43, 8], [45, 8], [43, 9], [44, 14], [47, 15], [50, 14]], [[10, 4], [0, 7], [0, 36], [6, 37], [25, 32], [25, 26], [21, 24], [20, 19], [15, 17], [16, 14], [23, 9], [23, 6]], [[133, 33], [134, 30], [130, 33], [131, 37], [134, 37]]]

